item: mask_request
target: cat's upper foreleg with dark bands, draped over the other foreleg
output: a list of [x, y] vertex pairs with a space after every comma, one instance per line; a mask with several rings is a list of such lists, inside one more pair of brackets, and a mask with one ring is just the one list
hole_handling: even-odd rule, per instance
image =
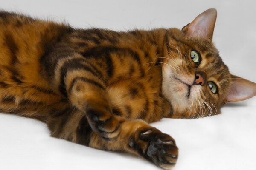
[[49, 78], [55, 91], [69, 99], [71, 105], [84, 113], [90, 127], [100, 136], [106, 139], [118, 136], [120, 122], [112, 113], [104, 71], [92, 60], [76, 53], [52, 58], [51, 65], [49, 61], [46, 62], [47, 66], [44, 62], [42, 65], [45, 68], [51, 67], [44, 69], [43, 74]]

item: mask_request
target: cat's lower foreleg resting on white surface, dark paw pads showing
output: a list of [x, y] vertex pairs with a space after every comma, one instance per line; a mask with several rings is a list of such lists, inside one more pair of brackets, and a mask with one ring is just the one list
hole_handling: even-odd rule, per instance
[[64, 108], [52, 114], [47, 124], [52, 136], [100, 150], [124, 151], [142, 156], [159, 167], [175, 166], [178, 149], [174, 139], [142, 120], [115, 116], [120, 123], [120, 135], [106, 140], [89, 125], [87, 116], [76, 108]]

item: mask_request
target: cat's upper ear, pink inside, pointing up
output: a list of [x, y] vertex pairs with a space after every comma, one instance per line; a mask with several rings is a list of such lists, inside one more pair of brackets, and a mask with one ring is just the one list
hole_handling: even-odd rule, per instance
[[184, 26], [182, 31], [186, 35], [212, 39], [216, 18], [216, 9], [207, 9], [202, 14], [198, 15], [192, 23]]

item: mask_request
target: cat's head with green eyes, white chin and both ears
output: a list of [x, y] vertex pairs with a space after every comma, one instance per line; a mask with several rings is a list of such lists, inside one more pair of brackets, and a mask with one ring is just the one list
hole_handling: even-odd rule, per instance
[[217, 11], [208, 9], [182, 30], [168, 30], [162, 90], [173, 117], [212, 116], [227, 102], [256, 95], [256, 84], [230, 74], [212, 43], [216, 17]]

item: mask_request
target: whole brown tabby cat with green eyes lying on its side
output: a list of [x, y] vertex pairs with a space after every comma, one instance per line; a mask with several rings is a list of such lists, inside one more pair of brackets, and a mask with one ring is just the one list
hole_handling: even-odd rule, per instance
[[0, 111], [169, 169], [176, 143], [148, 123], [216, 115], [226, 102], [256, 95], [256, 84], [230, 74], [213, 45], [216, 16], [208, 9], [182, 30], [116, 32], [1, 11]]

